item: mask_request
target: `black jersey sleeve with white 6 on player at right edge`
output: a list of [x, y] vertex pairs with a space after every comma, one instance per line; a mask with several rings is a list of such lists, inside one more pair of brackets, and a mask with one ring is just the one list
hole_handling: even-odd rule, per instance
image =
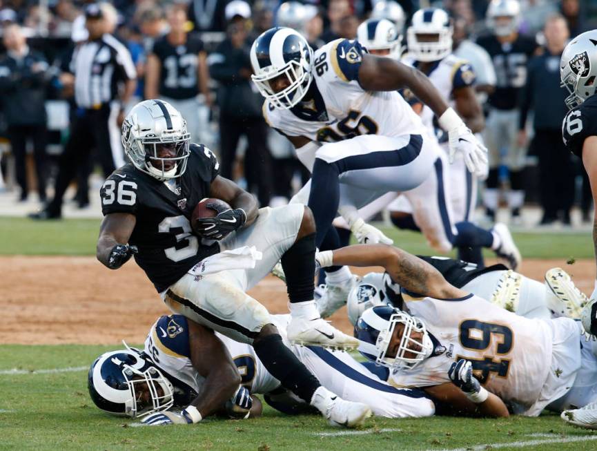
[[570, 110], [562, 122], [562, 138], [571, 153], [583, 157], [583, 144], [597, 135], [597, 94]]

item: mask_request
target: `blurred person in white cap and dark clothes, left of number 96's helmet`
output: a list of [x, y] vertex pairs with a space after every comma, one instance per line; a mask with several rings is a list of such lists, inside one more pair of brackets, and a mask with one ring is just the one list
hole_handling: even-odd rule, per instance
[[267, 146], [268, 126], [262, 115], [263, 99], [253, 90], [251, 73], [251, 41], [247, 40], [247, 19], [251, 8], [242, 1], [226, 7], [229, 21], [227, 36], [210, 55], [209, 71], [219, 81], [220, 164], [222, 176], [233, 178], [233, 164], [241, 135], [246, 136], [245, 176], [248, 184], [257, 184], [257, 198], [262, 207], [271, 197], [271, 155]]

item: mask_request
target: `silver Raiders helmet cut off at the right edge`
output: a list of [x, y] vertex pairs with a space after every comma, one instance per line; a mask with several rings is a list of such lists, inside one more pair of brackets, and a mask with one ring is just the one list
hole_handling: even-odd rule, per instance
[[560, 58], [560, 86], [570, 95], [565, 102], [574, 108], [594, 95], [597, 88], [597, 30], [572, 39]]

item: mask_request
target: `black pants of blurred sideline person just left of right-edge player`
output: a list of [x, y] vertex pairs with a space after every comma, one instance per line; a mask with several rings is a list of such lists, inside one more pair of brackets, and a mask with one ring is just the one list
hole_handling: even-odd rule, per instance
[[562, 142], [559, 129], [537, 129], [533, 138], [534, 153], [539, 158], [541, 206], [546, 219], [564, 215], [574, 203], [576, 171], [572, 154]]

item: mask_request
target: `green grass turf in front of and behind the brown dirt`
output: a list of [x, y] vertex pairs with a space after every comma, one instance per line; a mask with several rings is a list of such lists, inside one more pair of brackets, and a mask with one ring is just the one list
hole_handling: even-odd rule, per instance
[[[39, 224], [1, 218], [0, 254], [92, 255], [98, 227], [98, 220]], [[404, 249], [429, 253], [416, 233], [386, 233]], [[592, 258], [589, 233], [515, 238], [527, 258]], [[376, 418], [362, 430], [347, 431], [329, 427], [320, 416], [289, 417], [266, 407], [262, 419], [135, 428], [130, 420], [103, 414], [88, 397], [86, 367], [108, 349], [0, 345], [0, 450], [597, 450], [597, 434], [572, 428], [557, 415]]]

